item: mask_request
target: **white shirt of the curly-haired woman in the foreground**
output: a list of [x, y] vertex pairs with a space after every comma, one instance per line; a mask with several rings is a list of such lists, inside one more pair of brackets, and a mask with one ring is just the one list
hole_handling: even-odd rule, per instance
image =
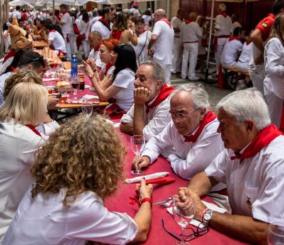
[[77, 196], [67, 210], [66, 189], [58, 194], [38, 194], [31, 188], [18, 207], [3, 245], [84, 245], [87, 240], [102, 244], [126, 244], [136, 237], [138, 227], [126, 213], [109, 212], [96, 193]]

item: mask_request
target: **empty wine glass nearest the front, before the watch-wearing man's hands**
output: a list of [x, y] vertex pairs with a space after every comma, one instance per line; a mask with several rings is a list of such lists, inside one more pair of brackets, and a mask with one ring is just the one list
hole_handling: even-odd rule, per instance
[[173, 197], [173, 217], [176, 222], [182, 227], [182, 241], [178, 241], [175, 245], [188, 245], [189, 243], [185, 241], [185, 227], [192, 221], [195, 217], [195, 201], [188, 197], [180, 202], [178, 195]]

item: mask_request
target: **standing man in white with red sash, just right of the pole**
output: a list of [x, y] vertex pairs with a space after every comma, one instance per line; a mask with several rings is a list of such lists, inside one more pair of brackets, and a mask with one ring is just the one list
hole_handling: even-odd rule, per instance
[[219, 4], [218, 9], [219, 14], [216, 16], [214, 37], [217, 74], [219, 72], [222, 52], [231, 32], [231, 18], [226, 14], [226, 5], [223, 3]]

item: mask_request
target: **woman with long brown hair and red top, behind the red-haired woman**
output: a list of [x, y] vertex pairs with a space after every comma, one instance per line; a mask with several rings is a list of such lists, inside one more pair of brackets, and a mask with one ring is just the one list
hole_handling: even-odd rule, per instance
[[127, 28], [127, 18], [123, 13], [116, 14], [114, 17], [114, 25], [111, 31], [111, 37], [119, 40], [121, 43], [137, 45], [137, 35], [135, 30]]

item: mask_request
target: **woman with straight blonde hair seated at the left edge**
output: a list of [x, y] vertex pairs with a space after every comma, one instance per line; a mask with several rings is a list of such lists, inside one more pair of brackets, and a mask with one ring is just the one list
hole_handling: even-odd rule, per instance
[[0, 244], [32, 183], [33, 154], [45, 142], [35, 127], [45, 120], [47, 102], [44, 86], [20, 83], [0, 107]]

